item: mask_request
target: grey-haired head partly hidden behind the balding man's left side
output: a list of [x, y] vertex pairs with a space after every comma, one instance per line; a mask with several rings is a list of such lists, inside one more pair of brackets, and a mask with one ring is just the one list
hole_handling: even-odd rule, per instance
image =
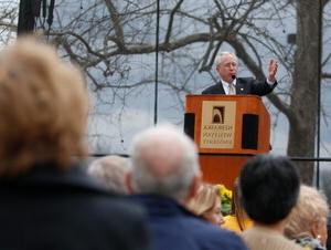
[[125, 195], [128, 194], [125, 178], [129, 170], [130, 164], [128, 158], [113, 155], [94, 160], [87, 171], [109, 190]]

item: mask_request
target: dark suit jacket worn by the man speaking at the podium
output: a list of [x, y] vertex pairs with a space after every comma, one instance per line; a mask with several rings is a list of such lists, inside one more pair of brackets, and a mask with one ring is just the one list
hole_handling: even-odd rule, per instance
[[[238, 77], [236, 80], [236, 94], [237, 95], [267, 95], [276, 87], [277, 81], [270, 85], [266, 81], [259, 82], [253, 77]], [[216, 83], [205, 88], [202, 94], [225, 94], [222, 82]]]

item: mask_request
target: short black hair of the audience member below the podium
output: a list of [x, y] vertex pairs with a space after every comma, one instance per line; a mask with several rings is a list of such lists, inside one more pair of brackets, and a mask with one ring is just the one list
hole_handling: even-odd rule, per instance
[[242, 204], [257, 222], [285, 219], [296, 205], [300, 188], [297, 168], [284, 156], [258, 155], [247, 160], [239, 176]]

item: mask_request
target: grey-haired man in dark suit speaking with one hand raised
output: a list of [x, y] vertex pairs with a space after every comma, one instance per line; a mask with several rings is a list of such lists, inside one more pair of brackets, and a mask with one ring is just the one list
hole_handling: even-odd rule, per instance
[[253, 77], [236, 77], [238, 59], [234, 53], [222, 52], [215, 59], [216, 71], [221, 81], [205, 88], [202, 94], [226, 94], [226, 95], [266, 95], [277, 85], [276, 72], [278, 63], [270, 60], [268, 77], [265, 81], [256, 81]]

